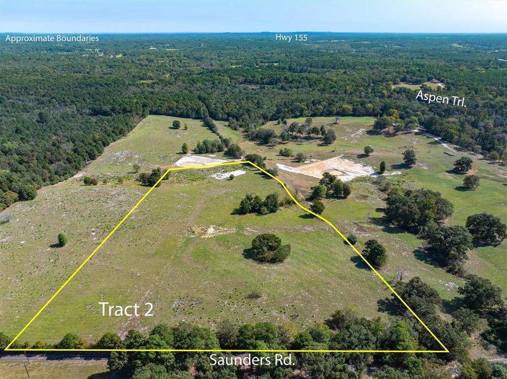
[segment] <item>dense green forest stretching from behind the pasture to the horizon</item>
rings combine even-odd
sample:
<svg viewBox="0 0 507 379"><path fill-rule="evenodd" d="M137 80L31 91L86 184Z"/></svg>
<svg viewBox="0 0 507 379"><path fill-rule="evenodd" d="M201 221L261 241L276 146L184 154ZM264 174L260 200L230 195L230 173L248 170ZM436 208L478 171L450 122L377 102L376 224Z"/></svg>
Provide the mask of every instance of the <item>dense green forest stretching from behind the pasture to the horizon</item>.
<svg viewBox="0 0 507 379"><path fill-rule="evenodd" d="M324 33L308 45L250 37L102 36L93 46L3 46L0 206L73 175L149 114L229 120L250 132L267 120L397 109L406 125L416 118L463 147L503 154L507 73L497 59L499 36ZM433 78L445 82L446 93L464 96L467 107L428 105L391 87Z"/></svg>

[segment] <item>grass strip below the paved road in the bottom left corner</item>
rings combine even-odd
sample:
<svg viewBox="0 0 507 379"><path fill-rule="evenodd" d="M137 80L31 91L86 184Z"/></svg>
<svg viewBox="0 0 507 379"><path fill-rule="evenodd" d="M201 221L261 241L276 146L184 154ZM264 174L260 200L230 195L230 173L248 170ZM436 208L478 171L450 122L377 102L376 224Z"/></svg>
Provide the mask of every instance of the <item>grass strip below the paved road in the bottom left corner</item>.
<svg viewBox="0 0 507 379"><path fill-rule="evenodd" d="M107 361L31 361L26 365L30 379L112 379L118 377L107 371ZM2 379L27 379L25 366L20 363L0 363Z"/></svg>

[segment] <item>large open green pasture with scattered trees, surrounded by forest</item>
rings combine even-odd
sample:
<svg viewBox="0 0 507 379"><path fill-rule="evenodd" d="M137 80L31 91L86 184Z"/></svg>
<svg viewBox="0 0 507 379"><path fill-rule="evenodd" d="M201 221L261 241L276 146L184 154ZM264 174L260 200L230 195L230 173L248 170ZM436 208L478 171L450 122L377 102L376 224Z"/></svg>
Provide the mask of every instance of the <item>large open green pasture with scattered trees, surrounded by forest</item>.
<svg viewBox="0 0 507 379"><path fill-rule="evenodd" d="M107 147L85 171L94 175L118 172L121 164L106 157L115 157L119 151L125 153L118 158L123 160L124 167L134 162L129 157L143 162L139 163L141 171L168 166L181 157L176 153L183 142L193 146L198 139L214 138L195 120L180 119L182 125L188 123L192 137L182 134L183 129L168 129L172 120L148 117L128 137ZM266 156L268 167L276 167L276 163L300 165L277 155L280 146L285 145L295 153L303 151L307 159L342 155L375 169L385 160L388 171L402 172L387 180L442 192L455 206L449 223L463 224L468 215L483 211L507 221L502 184L505 167L460 151L455 151L456 157L449 157L443 153L441 143L421 133L397 136L371 133L373 122L374 119L366 117L342 118L336 125L333 118L314 118L314 125L335 130L338 138L331 146L321 145L318 140L302 140L270 148L244 140L239 132L228 132L233 140L241 138L246 153ZM281 128L276 122L266 127L277 132ZM227 137L227 127L219 128ZM365 145L375 150L370 157L362 155ZM415 149L418 159L412 169L399 166L401 153L408 146ZM473 158L473 170L481 177L481 185L475 192L460 191L463 176L450 171L452 163L462 155ZM306 216L296 206L264 216L236 214L235 209L247 192L263 197L272 192L284 196L276 181L253 170L234 180L210 177L213 173L237 169L230 166L171 173L20 341L33 343L42 339L54 343L66 332L76 332L92 342L106 331L146 330L159 322L179 321L213 326L222 319L286 322L300 330L347 306L369 318L378 316L381 310L377 301L389 296L389 291L323 222ZM279 178L302 198L318 182L310 176L281 170ZM405 271L404 278L420 276L444 299L455 297L462 280L428 260L419 251L423 241L383 222L383 213L378 208L384 205L384 194L372 179L353 180L352 195L346 200L325 200L323 216L344 234L356 234L358 248L371 238L386 246L388 264L380 271L386 280ZM33 201L16 203L7 209L5 212L13 217L0 226L0 246L7 252L0 256L0 279L6 283L0 288L3 299L0 330L10 335L19 331L146 191L148 187L134 180L121 185L110 182L87 187L79 178L73 178L41 189ZM303 200L303 204L307 203ZM63 248L53 245L59 232L64 232L69 240ZM245 249L253 237L263 232L275 233L283 243L291 244L292 253L285 262L259 264L248 259ZM504 242L469 252L466 267L507 291L505 246ZM249 298L254 291L262 296ZM99 301L115 305L149 301L154 304L155 316L102 317Z"/></svg>

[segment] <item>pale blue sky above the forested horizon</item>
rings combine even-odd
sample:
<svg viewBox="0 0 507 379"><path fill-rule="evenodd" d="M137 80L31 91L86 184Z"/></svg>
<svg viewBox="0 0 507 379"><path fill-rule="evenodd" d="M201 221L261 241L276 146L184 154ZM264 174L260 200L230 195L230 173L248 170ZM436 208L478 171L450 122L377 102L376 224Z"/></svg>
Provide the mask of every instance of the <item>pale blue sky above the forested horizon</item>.
<svg viewBox="0 0 507 379"><path fill-rule="evenodd" d="M507 32L507 1L0 1L0 32Z"/></svg>

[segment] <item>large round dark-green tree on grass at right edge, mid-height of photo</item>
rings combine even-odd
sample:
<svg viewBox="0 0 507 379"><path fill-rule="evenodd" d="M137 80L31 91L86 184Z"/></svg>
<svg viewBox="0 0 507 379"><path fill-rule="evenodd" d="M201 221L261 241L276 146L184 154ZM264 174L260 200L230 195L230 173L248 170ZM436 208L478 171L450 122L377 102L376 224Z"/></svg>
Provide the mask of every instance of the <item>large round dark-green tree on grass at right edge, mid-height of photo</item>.
<svg viewBox="0 0 507 379"><path fill-rule="evenodd" d="M474 239L480 242L499 244L507 238L507 225L489 213L468 216L465 226Z"/></svg>

